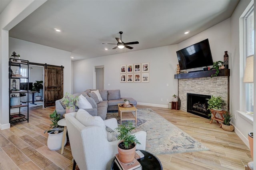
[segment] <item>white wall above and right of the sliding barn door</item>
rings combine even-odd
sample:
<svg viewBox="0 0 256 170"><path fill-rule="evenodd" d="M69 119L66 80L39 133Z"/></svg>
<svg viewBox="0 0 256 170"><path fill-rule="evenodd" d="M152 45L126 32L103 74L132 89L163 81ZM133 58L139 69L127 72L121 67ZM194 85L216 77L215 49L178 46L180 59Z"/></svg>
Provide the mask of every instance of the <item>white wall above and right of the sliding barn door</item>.
<svg viewBox="0 0 256 170"><path fill-rule="evenodd" d="M64 94L65 92L72 92L70 81L72 77L70 52L16 38L9 38L9 54L11 55L13 51L20 54L20 59L26 59L33 63L64 66L63 91Z"/></svg>

